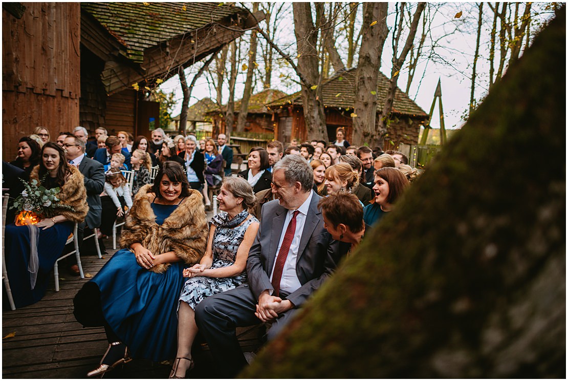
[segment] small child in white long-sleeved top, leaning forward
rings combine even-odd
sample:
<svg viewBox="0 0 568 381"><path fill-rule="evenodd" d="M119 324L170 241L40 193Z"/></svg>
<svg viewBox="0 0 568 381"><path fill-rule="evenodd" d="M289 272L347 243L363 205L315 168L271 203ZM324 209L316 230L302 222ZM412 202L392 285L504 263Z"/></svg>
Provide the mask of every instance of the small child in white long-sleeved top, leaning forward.
<svg viewBox="0 0 568 381"><path fill-rule="evenodd" d="M124 158L121 154L120 155ZM112 155L114 158L114 155ZM120 169L110 169L105 177L105 191L101 194L102 216L101 228L99 233L102 235L112 234L112 225L116 221L116 217L124 216L124 208L126 212L132 208L132 197L130 188Z"/></svg>

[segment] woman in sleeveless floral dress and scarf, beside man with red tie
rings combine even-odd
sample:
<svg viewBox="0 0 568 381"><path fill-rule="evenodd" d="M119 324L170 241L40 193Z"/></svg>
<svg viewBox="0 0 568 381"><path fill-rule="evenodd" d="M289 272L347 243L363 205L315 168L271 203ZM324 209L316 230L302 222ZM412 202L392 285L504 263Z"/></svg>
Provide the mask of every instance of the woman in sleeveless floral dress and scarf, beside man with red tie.
<svg viewBox="0 0 568 381"><path fill-rule="evenodd" d="M258 231L258 220L248 213L256 197L247 180L225 177L219 209L211 220L207 250L199 264L186 268L178 302L178 349L170 378L185 378L193 367L191 345L197 335L195 306L207 296L235 288L247 281L248 252Z"/></svg>

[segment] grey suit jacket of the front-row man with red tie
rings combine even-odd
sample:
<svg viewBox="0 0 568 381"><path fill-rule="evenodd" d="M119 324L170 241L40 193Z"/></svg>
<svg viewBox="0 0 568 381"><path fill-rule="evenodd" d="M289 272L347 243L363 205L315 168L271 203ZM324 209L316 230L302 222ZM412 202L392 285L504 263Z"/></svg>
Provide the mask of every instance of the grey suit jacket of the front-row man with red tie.
<svg viewBox="0 0 568 381"><path fill-rule="evenodd" d="M323 217L318 209L320 199L321 197L315 193L312 196L300 238L296 274L302 287L286 297L296 308L300 307L332 274L348 249L348 245L340 246L339 241L334 241L323 227ZM257 300L263 291L273 288L270 283L270 273L274 266L287 212L288 210L280 206L278 200L267 202L262 207L260 227L247 260L248 283Z"/></svg>

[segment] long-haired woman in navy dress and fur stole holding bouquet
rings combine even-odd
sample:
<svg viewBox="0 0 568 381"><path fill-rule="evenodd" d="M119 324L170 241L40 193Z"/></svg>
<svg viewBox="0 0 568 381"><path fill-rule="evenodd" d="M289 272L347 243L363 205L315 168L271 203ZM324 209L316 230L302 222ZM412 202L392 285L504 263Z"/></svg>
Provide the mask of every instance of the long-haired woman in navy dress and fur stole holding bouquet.
<svg viewBox="0 0 568 381"><path fill-rule="evenodd" d="M34 142L35 143L35 142ZM85 219L89 206L83 175L65 159L65 151L48 142L41 148L40 163L30 180L47 189L60 187L59 203L73 210L54 208L36 225L6 225L6 271L16 308L34 304L45 295L53 264L61 256L74 222ZM8 298L4 298L4 308Z"/></svg>

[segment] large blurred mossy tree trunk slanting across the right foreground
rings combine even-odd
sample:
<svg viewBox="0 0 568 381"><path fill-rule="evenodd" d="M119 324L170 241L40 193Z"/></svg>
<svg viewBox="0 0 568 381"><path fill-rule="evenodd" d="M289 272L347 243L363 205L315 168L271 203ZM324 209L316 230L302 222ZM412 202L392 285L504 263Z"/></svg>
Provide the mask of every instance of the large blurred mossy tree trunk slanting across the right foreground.
<svg viewBox="0 0 568 381"><path fill-rule="evenodd" d="M247 378L565 378L565 9Z"/></svg>

